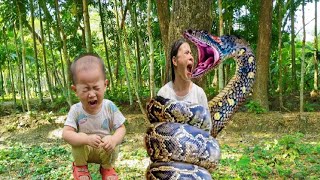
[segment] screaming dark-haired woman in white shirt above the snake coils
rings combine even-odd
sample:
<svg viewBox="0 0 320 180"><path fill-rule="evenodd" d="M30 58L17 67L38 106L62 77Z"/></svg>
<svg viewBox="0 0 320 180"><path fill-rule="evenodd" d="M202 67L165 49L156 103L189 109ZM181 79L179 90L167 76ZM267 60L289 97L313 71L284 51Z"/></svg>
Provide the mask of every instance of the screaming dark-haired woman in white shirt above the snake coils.
<svg viewBox="0 0 320 180"><path fill-rule="evenodd" d="M203 89L191 81L194 58L185 39L173 43L170 59L172 81L165 84L157 95L177 101L197 103L208 109L208 100Z"/></svg>

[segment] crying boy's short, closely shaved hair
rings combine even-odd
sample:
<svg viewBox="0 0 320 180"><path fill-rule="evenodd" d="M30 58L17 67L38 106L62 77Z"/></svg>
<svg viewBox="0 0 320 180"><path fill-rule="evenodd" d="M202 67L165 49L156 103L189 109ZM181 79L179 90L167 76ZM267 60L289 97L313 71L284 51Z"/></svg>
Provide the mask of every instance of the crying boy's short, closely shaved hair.
<svg viewBox="0 0 320 180"><path fill-rule="evenodd" d="M71 66L70 66L70 71L71 71L71 75L72 75L72 83L76 84L76 82L77 82L77 77L76 77L76 70L77 70L77 64L78 64L77 62L78 62L79 59L81 59L81 58L83 58L85 56L92 56L94 58L89 58L86 61L81 62L81 63L87 63L87 64L97 63L101 67L101 71L103 73L103 78L105 80L106 79L106 69L105 69L105 66L104 66L104 62L100 58L100 56L95 54L95 53L84 53L84 54L81 54L81 55L77 56L73 60ZM98 60L98 61L96 61L96 60Z"/></svg>

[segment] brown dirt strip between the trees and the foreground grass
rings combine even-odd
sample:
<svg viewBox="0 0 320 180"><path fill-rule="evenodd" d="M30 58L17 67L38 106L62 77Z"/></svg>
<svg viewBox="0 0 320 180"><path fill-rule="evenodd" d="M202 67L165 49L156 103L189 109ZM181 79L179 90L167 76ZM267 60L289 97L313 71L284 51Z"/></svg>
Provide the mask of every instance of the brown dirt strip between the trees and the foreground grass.
<svg viewBox="0 0 320 180"><path fill-rule="evenodd" d="M144 132L149 122L142 114L125 113L128 150L143 145ZM23 144L61 143L61 130L66 116L48 113L15 114L0 117L0 148L7 140ZM299 113L268 112L263 114L238 112L218 135L221 144L255 143L261 138L272 139L286 133L301 132L306 138L319 141L320 112ZM130 143L132 142L132 144ZM138 143L137 143L138 142Z"/></svg>

